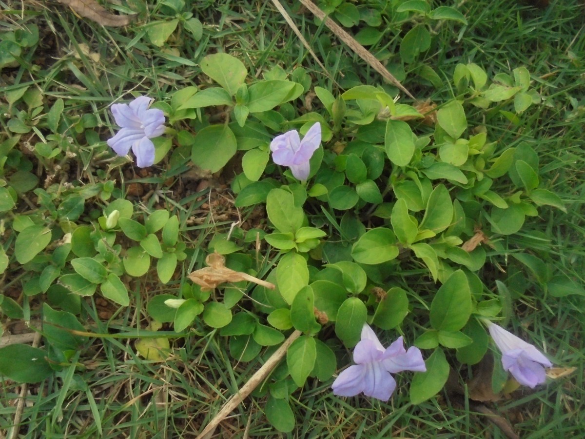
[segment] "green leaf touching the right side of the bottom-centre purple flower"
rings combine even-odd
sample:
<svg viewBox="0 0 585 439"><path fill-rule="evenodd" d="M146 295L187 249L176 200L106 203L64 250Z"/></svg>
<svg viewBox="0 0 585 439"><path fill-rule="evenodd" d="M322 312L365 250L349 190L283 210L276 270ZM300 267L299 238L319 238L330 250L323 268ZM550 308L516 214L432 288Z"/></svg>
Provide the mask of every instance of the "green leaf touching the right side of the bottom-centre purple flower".
<svg viewBox="0 0 585 439"><path fill-rule="evenodd" d="M415 373L410 385L410 402L420 404L435 396L449 378L449 363L441 348L425 361L426 372Z"/></svg>

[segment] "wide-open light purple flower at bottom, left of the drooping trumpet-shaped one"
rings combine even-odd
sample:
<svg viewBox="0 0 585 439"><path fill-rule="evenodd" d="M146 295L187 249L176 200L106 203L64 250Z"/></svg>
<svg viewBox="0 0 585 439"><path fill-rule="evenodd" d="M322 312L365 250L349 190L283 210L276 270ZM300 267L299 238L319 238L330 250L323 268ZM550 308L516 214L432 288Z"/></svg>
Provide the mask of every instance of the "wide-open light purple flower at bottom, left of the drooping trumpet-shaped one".
<svg viewBox="0 0 585 439"><path fill-rule="evenodd" d="M398 337L388 349L384 349L367 324L362 328L362 339L353 350L353 361L357 364L349 366L333 382L331 388L334 395L355 396L364 393L387 401L396 388L390 373L426 371L418 348L413 346L406 351L402 337Z"/></svg>

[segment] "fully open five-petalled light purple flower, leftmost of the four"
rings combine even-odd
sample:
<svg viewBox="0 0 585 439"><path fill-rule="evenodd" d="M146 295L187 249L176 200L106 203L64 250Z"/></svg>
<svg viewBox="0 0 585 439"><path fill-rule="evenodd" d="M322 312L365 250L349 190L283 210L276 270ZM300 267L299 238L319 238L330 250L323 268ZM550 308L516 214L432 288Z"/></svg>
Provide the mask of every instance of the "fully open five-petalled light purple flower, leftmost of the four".
<svg viewBox="0 0 585 439"><path fill-rule="evenodd" d="M150 139L160 136L165 129L163 111L149 109L152 101L149 97L139 96L130 104L112 105L113 118L122 129L108 140L108 145L119 156L128 155L132 148L139 167L154 163L154 144Z"/></svg>

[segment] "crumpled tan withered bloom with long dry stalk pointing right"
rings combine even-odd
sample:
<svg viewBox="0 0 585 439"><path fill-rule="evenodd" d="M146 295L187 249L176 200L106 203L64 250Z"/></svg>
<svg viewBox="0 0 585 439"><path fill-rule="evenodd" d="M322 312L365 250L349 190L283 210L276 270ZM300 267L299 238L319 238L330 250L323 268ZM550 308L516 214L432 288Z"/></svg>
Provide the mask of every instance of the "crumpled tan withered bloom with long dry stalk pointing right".
<svg viewBox="0 0 585 439"><path fill-rule="evenodd" d="M245 280L247 282L257 283L263 287L274 290L273 283L250 276L247 273L236 272L225 266L225 258L219 253L211 253L205 258L205 263L208 267L195 270L188 277L192 282L201 286L202 291L210 291L225 282L240 282Z"/></svg>

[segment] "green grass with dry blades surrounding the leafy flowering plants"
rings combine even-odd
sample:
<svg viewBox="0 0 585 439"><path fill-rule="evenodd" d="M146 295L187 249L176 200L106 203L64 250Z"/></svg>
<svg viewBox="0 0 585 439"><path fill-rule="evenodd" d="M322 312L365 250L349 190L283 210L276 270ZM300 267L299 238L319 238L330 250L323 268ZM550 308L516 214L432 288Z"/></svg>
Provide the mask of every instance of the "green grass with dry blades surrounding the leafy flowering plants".
<svg viewBox="0 0 585 439"><path fill-rule="evenodd" d="M391 2L367 2L379 9L387 3ZM18 85L30 84L42 90L51 103L63 98L71 125L82 115L93 114L103 140L112 132L109 126L114 125L106 108L114 100L128 98L130 90L164 100L178 88L208 83L197 66L181 63L177 56L198 64L206 54L227 52L242 60L256 77L274 66L288 73L302 66L311 74L312 87L319 85L334 91L340 90L338 86L345 90L357 84L380 83L369 66L323 25L315 24L311 14L299 5L290 2L285 7L328 68L326 73L270 2L189 1L185 10L192 10L204 23L204 35L195 41L179 25L166 46L176 50L174 58L150 43L145 35L144 25L148 22L174 17L157 2L149 4L148 12L141 2L123 2L118 7L122 13L139 11L140 15L137 22L121 29L104 28L77 18L56 3L27 3L21 11L18 2L0 2L6 9L0 31L35 23L41 34L40 49L35 53L23 51L16 67L2 70L0 95ZM457 63L480 64L490 76L519 66L531 72L542 103L529 108L519 125L507 123L498 115L483 123L500 145L526 142L538 152L540 177L546 187L566 201L567 212L542 208L538 217L529 218L519 234L508 237L497 251L489 253L501 271L494 269L488 275L503 280L512 290L515 300L508 327L544 347L556 366L575 367L576 372L534 391L517 392L510 399L486 405L509 417L520 437L580 437L585 425L583 296L551 297L530 276L522 277L522 284L515 282L515 273L506 269L505 261L512 258L511 253L524 249L541 258L553 273L566 273L581 284L585 282L582 5L577 1L552 1L547 8L536 9L527 2L478 0L463 2L459 10L469 25L437 23L431 49L417 63L402 66L398 56L404 36L401 23L387 23L383 37L369 50L415 96L438 103L453 95L450 78ZM99 60L92 60L84 47L97 54ZM442 87L435 88L418 76L422 65L436 71ZM385 87L392 90L389 85ZM314 105L315 111L322 111L317 100ZM6 124L0 118L0 136L8 132ZM205 239L215 232L227 232L235 220L230 217L215 221L211 214L202 214L199 209L207 202L207 193L195 192L190 181L181 180L178 171L176 186L171 190L177 190L179 184L187 185L187 189L179 191L181 195L176 198L165 192L166 180L172 173L146 178L131 172L122 174L116 168L98 176L92 160L108 165L106 146L91 146L92 139L73 131L70 141L76 156L64 159L61 170L55 171L55 180L111 178L121 185L122 193L131 183L148 184L153 193L143 200L144 210L148 212L161 200L167 200L180 215L187 246L197 249L192 259L185 261L185 272L201 266L205 249L200 246ZM37 169L41 174L41 167ZM502 185L505 190L505 183ZM35 205L32 201L30 204ZM246 217L249 212L242 214ZM199 223L188 221L192 217L199 217ZM2 282L3 287L8 287L10 280ZM148 323L147 300L155 294L176 292L179 287L178 282L160 286L154 277L145 277L132 285L131 306L109 320L99 317L94 300L88 302L82 315L90 322L92 332L136 331ZM414 338L408 325L404 331L408 339ZM216 331L209 332L202 323L195 324L188 337L171 339L171 345L171 359L157 363L137 355L133 339L92 339L91 347L77 358L82 364L77 373L68 366L40 386L29 385L19 437L192 437L271 353L266 349L253 361L236 363L225 338ZM343 358L338 358L338 367L349 362L350 352L345 352ZM278 369L274 373L278 374ZM340 399L332 395L331 383L311 381L292 394L297 424L288 435L276 433L267 423L263 414L265 399L247 399L221 424L218 437L504 437L488 416L474 410L463 397L442 392L436 399L413 406L408 401L410 377L405 373L397 378L398 389L387 404L366 397ZM0 433L12 426L20 392L20 386L14 384L4 382L1 386Z"/></svg>

